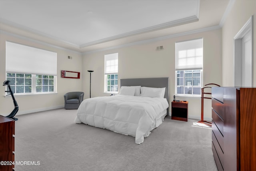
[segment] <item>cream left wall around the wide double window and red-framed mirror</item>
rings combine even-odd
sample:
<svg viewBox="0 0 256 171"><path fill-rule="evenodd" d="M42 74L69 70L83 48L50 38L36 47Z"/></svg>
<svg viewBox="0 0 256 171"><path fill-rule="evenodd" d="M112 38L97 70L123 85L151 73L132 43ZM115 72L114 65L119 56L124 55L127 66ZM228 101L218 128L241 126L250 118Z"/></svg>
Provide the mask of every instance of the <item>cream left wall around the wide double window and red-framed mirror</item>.
<svg viewBox="0 0 256 171"><path fill-rule="evenodd" d="M24 113L31 113L34 111L43 111L48 109L55 109L64 107L63 95L68 91L82 91L82 79L70 79L61 78L61 70L76 71L82 73L82 54L48 46L46 44L35 42L22 38L21 36L15 36L12 34L6 34L1 32L0 34L0 114L8 115L13 109L14 105L10 96L5 96L5 86L2 86L2 82L6 80L6 68L5 68L5 49L6 41L16 42L24 44L26 46L32 46L35 48L41 48L52 52L57 52L57 92L56 94L44 94L44 95L16 95L16 101L19 106L17 115ZM72 56L72 60L68 59L68 56Z"/></svg>

